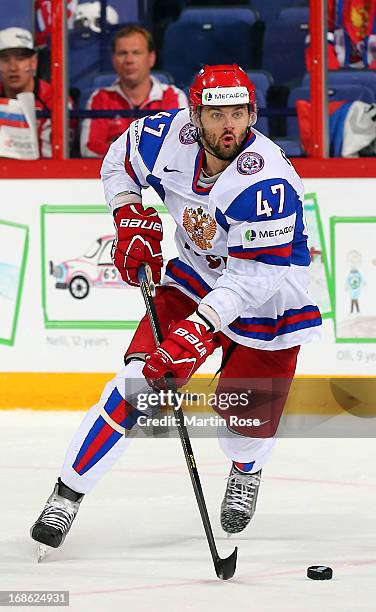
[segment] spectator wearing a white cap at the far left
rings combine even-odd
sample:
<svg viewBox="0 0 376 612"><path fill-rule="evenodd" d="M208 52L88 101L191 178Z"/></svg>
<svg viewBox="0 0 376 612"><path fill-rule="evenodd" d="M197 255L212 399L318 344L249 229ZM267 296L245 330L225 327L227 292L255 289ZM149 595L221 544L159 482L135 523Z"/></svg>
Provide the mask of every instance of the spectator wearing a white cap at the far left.
<svg viewBox="0 0 376 612"><path fill-rule="evenodd" d="M38 58L33 37L22 28L0 31L0 97L16 98L17 94L32 92L38 110L49 109L51 85L36 78ZM51 157L51 121L37 119L41 157Z"/></svg>

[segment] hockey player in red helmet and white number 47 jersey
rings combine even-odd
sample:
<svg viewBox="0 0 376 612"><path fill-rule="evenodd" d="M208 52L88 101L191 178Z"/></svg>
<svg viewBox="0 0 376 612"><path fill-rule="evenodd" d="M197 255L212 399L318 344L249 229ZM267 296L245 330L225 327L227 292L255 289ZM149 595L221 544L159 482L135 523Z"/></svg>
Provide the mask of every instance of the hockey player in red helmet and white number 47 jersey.
<svg viewBox="0 0 376 612"><path fill-rule="evenodd" d="M135 387L161 386L168 372L187 381L218 346L218 389L253 380L246 409L259 417L258 427L243 427L230 419L236 407L223 411L228 429L220 444L232 463L222 527L240 532L254 514L299 347L321 325L307 293L303 185L284 152L254 129L255 95L238 66L204 66L190 88L189 110L135 121L104 159L105 197L117 230L113 259L126 283L138 285L141 262L157 285L161 278L162 224L156 210L142 206L142 189L152 186L176 223L179 256L168 262L155 298L165 340L156 349L142 319L125 367L72 440L31 529L38 542L63 542L83 495L129 444L140 414ZM257 393L260 380L269 380L269 393Z"/></svg>

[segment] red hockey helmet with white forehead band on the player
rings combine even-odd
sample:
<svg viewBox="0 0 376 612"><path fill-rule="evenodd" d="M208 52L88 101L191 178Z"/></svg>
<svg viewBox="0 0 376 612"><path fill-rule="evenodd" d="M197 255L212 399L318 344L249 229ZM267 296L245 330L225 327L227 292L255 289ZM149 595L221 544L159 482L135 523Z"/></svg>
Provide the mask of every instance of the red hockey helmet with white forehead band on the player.
<svg viewBox="0 0 376 612"><path fill-rule="evenodd" d="M198 106L249 104L256 112L256 89L240 66L236 64L205 65L189 88L193 112Z"/></svg>

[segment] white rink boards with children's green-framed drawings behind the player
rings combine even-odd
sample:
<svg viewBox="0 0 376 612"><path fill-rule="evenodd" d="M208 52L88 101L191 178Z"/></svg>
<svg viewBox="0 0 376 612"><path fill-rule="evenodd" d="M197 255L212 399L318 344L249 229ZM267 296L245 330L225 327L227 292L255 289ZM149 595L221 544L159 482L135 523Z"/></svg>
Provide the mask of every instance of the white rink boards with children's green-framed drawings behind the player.
<svg viewBox="0 0 376 612"><path fill-rule="evenodd" d="M373 376L376 249L369 219L376 179L304 183L313 262L310 291L324 321L322 340L302 348L297 373ZM151 188L144 199L160 211L167 260L175 254L173 224ZM340 221L353 217L354 203L356 228L355 222ZM14 236L7 234L10 227L17 230ZM4 244L14 245L0 252L0 408L84 408L96 401L110 373L122 367L143 311L139 291L119 282L108 258L114 228L100 181L2 180L0 232ZM90 251L98 240L97 251ZM352 251L357 251L357 270L364 279L359 313L349 312L351 295L344 287ZM89 272L85 254L92 255ZM80 299L67 283L57 287L73 278L77 266L89 276L88 294ZM60 278L51 274L55 268ZM216 371L218 359L209 358L200 371Z"/></svg>

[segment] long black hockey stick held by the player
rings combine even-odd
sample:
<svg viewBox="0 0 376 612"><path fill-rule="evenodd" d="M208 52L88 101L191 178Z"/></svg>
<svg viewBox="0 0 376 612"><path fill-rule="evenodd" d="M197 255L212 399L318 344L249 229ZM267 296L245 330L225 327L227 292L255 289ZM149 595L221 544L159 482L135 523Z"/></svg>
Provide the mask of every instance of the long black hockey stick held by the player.
<svg viewBox="0 0 376 612"><path fill-rule="evenodd" d="M156 345L159 346L163 340L163 337L162 337L162 332L161 332L161 328L160 328L159 321L158 321L157 312L156 312L155 305L154 305L153 292L152 292L152 288L149 282L150 274L148 272L149 270L147 266L144 264L141 264L141 266L138 269L138 281L140 283L142 296L145 301L146 312L149 317L151 328L153 330L154 340L155 340ZM184 414L183 414L182 409L179 408L178 404L175 402L176 385L174 384L174 381L171 380L171 378L166 382L168 382L169 389L173 391L171 395L174 398L173 404L174 404L174 413L175 413L176 421L178 424L177 429L178 429L180 441L183 447L184 456L185 456L185 460L187 463L189 475L191 477L193 490L195 492L197 505L200 510L201 519L204 525L204 529L205 529L206 537L208 540L211 556L213 559L215 571L216 571L218 578L221 578L222 580L228 580L229 578L232 578L233 575L235 574L238 547L236 546L234 552L229 557L226 557L225 559L221 559L221 557L218 555L217 547L215 545L215 540L213 536L213 531L210 525L208 511L206 508L204 493L201 487L200 477L197 471L196 461L195 461L195 457L194 457L192 446L191 446L191 441L189 439L189 434L188 434L187 428L184 423Z"/></svg>

